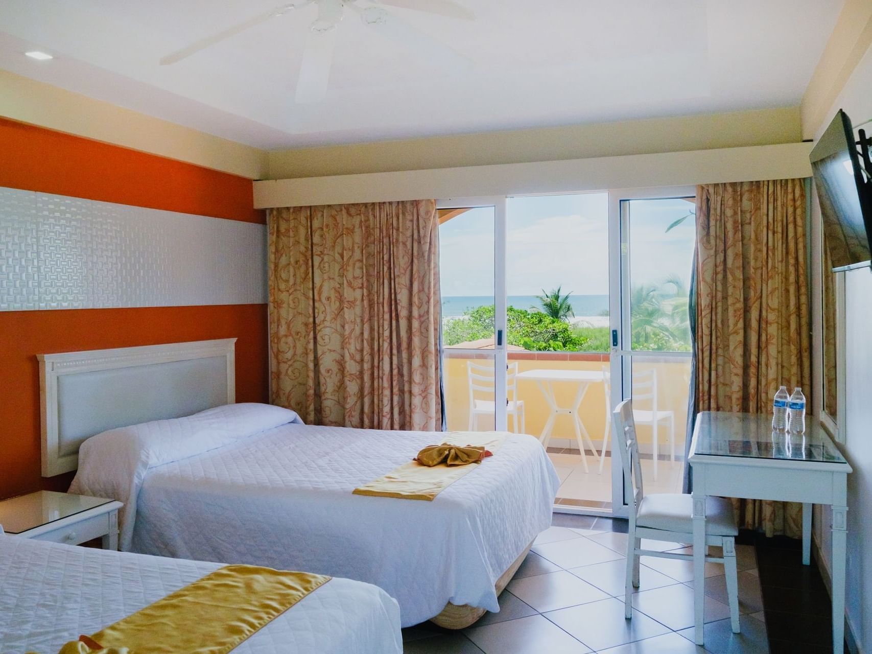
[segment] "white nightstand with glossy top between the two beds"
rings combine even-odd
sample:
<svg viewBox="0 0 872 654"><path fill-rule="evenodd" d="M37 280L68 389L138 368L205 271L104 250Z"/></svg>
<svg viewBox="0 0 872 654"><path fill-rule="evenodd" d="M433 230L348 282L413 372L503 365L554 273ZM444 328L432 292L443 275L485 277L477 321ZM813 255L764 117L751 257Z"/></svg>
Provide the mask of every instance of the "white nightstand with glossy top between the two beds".
<svg viewBox="0 0 872 654"><path fill-rule="evenodd" d="M118 549L118 510L124 505L102 497L37 491L0 501L0 525L8 535L78 545L103 539Z"/></svg>

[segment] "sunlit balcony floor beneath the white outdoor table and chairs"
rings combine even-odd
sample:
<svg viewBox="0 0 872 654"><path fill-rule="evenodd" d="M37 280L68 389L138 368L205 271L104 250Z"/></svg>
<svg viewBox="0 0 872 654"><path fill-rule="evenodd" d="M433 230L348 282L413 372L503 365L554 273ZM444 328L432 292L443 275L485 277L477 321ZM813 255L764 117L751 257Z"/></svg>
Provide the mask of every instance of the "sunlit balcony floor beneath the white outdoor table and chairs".
<svg viewBox="0 0 872 654"><path fill-rule="evenodd" d="M606 454L603 473L598 473L599 460L588 453L589 472L584 472L578 450L549 447L548 459L554 464L561 480L557 504L610 508L611 459ZM642 460L642 475L646 493L681 493L683 462L661 459L657 462L657 480L654 480L653 461ZM605 505L603 507L603 505Z"/></svg>

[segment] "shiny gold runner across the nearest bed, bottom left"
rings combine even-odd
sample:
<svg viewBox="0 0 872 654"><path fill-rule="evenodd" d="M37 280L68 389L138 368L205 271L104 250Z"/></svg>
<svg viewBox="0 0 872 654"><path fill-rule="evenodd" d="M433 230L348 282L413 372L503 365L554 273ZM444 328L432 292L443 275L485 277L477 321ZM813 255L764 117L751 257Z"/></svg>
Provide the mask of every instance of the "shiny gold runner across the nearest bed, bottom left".
<svg viewBox="0 0 872 654"><path fill-rule="evenodd" d="M226 654L329 576L228 565L59 654Z"/></svg>

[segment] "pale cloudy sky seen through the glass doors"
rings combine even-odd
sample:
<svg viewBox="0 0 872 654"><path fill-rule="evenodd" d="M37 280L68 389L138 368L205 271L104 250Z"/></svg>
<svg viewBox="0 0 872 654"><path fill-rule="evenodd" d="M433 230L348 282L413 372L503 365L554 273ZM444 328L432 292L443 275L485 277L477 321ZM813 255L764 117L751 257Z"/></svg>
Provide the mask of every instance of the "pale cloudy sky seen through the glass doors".
<svg viewBox="0 0 872 654"><path fill-rule="evenodd" d="M537 195L508 199L509 296L557 286L574 295L609 293L608 194ZM630 201L630 281L690 282L694 222L668 234L693 210L681 199ZM474 208L439 226L442 296L493 296L494 208Z"/></svg>

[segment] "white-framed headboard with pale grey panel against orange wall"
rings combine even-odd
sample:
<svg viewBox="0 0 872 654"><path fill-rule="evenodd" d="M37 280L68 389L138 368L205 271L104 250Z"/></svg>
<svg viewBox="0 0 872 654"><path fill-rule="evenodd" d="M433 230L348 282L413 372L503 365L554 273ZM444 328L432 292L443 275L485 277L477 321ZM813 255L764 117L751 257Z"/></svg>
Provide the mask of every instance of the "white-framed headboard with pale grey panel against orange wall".
<svg viewBox="0 0 872 654"><path fill-rule="evenodd" d="M94 434L236 401L235 338L38 354L43 476L78 467Z"/></svg>

